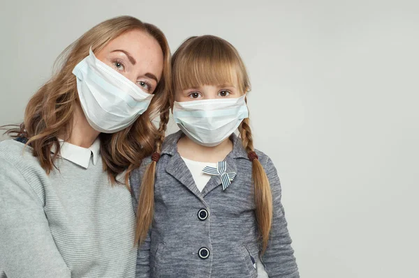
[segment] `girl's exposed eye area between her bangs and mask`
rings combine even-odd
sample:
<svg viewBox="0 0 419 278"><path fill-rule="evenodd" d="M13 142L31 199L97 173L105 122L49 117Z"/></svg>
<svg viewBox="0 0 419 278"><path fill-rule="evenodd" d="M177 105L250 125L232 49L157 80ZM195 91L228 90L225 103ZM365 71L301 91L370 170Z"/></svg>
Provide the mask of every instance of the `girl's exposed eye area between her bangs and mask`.
<svg viewBox="0 0 419 278"><path fill-rule="evenodd" d="M177 90L175 100L185 102L191 100L212 100L216 98L239 98L242 92L235 84L203 85L195 88Z"/></svg>

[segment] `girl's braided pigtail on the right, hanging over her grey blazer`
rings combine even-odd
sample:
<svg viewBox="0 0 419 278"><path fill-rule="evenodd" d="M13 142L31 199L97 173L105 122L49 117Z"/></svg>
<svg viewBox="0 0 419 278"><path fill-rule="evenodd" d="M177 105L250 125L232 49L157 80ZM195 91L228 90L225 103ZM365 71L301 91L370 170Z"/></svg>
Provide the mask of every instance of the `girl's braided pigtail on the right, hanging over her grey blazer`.
<svg viewBox="0 0 419 278"><path fill-rule="evenodd" d="M262 254L267 248L270 229L272 225L272 193L270 183L265 170L258 160L253 148L253 139L249 125L249 118L245 118L239 127L242 144L248 153L252 164L252 179L254 185L254 200L256 206L256 221L258 222L258 233L262 241Z"/></svg>

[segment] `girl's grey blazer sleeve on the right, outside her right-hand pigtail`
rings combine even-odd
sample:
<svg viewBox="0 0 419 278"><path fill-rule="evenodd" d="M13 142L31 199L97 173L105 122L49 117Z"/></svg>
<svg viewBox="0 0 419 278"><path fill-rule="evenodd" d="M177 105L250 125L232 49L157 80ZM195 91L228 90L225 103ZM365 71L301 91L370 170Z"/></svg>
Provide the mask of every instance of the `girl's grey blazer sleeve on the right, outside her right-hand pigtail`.
<svg viewBox="0 0 419 278"><path fill-rule="evenodd" d="M281 204L281 183L272 160L265 165L272 191L273 217L270 240L262 261L270 278L299 278L291 237L288 233L284 207Z"/></svg>

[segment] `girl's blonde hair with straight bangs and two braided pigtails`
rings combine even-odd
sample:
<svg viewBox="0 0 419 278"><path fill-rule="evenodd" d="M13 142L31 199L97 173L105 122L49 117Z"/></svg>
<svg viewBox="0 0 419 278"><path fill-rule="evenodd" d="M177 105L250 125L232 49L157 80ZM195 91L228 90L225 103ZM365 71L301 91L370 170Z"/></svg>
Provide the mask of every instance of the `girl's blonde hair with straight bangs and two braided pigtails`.
<svg viewBox="0 0 419 278"><path fill-rule="evenodd" d="M172 93L177 90L203 85L235 84L242 93L250 91L246 67L235 47L216 36L191 37L184 41L172 56ZM170 102L172 107L172 102ZM162 121L168 121L168 110ZM165 126L166 123L161 126ZM254 157L249 118L239 127L242 144ZM163 130L162 130L163 132ZM160 152L160 149L156 149ZM156 159L145 171L138 200L136 240L143 242L152 224L154 213L154 174ZM252 178L258 232L265 252L272 224L272 194L265 170L258 159L252 160Z"/></svg>

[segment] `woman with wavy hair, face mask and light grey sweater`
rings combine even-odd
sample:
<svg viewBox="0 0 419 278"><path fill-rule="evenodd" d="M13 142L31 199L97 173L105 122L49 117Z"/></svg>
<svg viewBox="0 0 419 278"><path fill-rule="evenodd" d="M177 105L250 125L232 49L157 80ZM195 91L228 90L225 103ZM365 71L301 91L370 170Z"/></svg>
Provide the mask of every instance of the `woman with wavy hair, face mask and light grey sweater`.
<svg viewBox="0 0 419 278"><path fill-rule="evenodd" d="M0 143L0 277L133 277L127 180L162 136L170 49L156 26L116 17L61 55Z"/></svg>

